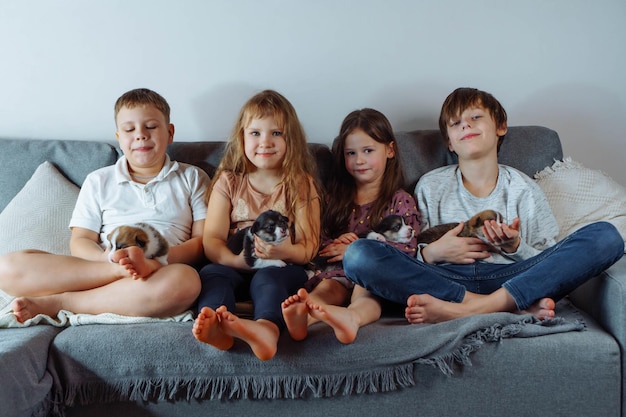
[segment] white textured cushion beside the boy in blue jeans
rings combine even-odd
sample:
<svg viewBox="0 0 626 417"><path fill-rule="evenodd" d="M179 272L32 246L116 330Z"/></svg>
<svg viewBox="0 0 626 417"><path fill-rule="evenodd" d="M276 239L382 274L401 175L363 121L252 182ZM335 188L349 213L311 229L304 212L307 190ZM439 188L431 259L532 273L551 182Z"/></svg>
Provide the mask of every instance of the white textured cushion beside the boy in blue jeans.
<svg viewBox="0 0 626 417"><path fill-rule="evenodd" d="M626 188L602 171L565 158L535 175L559 225L559 239L597 221L608 221L626 241Z"/></svg>

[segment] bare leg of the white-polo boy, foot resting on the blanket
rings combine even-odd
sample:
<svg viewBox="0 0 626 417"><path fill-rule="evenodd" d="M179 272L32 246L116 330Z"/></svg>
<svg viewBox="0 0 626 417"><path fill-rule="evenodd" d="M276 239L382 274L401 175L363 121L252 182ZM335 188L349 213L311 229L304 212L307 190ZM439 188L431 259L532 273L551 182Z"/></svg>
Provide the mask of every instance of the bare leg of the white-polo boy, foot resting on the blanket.
<svg viewBox="0 0 626 417"><path fill-rule="evenodd" d="M126 316L165 317L189 308L199 292L198 273L190 266L172 264L159 269L146 281L124 278L85 291L18 297L13 300L12 307L20 322L37 314L54 317L61 309L76 314L110 312Z"/></svg>

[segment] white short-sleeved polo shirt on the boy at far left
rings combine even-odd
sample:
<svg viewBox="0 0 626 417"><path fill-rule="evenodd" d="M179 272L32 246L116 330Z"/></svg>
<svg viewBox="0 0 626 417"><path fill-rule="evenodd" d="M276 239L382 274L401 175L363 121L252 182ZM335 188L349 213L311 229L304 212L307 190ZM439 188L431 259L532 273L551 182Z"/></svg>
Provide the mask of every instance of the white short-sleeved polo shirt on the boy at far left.
<svg viewBox="0 0 626 417"><path fill-rule="evenodd" d="M191 237L194 221L206 217L205 192L209 176L193 165L170 160L147 184L131 180L126 157L115 165L90 173L81 187L70 228L100 233L100 241L115 227L146 222L159 230L170 245Z"/></svg>

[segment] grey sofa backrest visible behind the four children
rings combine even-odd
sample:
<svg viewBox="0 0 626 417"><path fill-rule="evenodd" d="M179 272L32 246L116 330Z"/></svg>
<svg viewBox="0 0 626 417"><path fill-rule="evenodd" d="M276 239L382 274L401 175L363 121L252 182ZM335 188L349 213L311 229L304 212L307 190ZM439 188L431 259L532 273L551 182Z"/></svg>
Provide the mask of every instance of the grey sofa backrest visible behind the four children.
<svg viewBox="0 0 626 417"><path fill-rule="evenodd" d="M438 130L396 132L398 155L402 162L405 189L413 192L426 172L456 162ZM168 147L173 160L197 165L213 175L224 142L177 142ZM332 154L327 145L310 143L322 183L331 171ZM44 161L53 163L74 184L82 185L87 174L112 165L121 155L114 144L92 141L2 139L0 140L0 211L21 190L35 169ZM558 134L541 126L513 126L500 149L501 163L533 176L555 160L563 158Z"/></svg>

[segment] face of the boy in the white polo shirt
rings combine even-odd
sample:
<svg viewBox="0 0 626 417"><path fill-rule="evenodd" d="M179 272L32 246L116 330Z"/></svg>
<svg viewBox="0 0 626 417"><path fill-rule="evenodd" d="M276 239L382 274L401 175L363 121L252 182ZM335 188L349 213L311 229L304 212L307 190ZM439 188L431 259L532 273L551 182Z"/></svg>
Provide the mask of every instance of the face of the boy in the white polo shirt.
<svg viewBox="0 0 626 417"><path fill-rule="evenodd" d="M174 125L156 107L122 107L115 117L115 136L128 160L129 168L145 175L156 175L165 162L167 145L174 140Z"/></svg>

